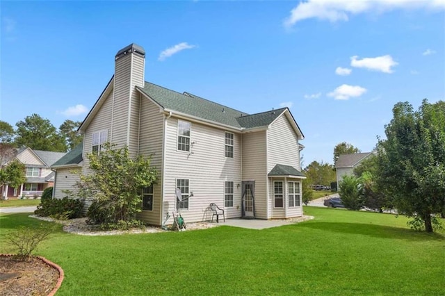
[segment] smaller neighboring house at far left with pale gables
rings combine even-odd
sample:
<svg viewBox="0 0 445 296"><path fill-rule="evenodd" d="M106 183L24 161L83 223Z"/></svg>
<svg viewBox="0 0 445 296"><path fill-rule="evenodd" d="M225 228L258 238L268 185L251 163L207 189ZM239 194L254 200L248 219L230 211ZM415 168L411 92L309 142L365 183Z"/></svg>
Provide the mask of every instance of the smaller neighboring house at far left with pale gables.
<svg viewBox="0 0 445 296"><path fill-rule="evenodd" d="M17 188L3 186L1 196L9 197L41 197L45 188L54 185L54 172L50 166L64 156L64 152L17 149L15 159L25 166L26 181Z"/></svg>

